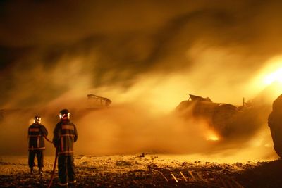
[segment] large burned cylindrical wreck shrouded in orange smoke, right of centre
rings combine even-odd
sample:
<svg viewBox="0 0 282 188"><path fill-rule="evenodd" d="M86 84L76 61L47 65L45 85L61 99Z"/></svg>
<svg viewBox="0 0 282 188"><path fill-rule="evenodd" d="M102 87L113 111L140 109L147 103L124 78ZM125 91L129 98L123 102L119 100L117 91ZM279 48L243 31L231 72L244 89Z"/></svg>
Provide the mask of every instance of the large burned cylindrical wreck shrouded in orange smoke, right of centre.
<svg viewBox="0 0 282 188"><path fill-rule="evenodd" d="M188 101L182 101L176 112L184 119L204 120L219 137L244 137L246 132L257 130L261 120L257 118L257 108L243 102L243 106L215 103L209 97L189 95Z"/></svg>

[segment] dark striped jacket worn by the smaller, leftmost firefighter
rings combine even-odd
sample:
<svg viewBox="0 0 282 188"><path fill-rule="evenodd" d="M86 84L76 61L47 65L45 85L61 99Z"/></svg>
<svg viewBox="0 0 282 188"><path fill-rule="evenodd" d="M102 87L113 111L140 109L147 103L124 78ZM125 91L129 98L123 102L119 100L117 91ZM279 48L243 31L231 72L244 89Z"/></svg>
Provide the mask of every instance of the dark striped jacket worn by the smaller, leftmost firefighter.
<svg viewBox="0 0 282 188"><path fill-rule="evenodd" d="M33 123L28 127L28 150L43 150L45 149L44 137L48 135L44 125Z"/></svg>

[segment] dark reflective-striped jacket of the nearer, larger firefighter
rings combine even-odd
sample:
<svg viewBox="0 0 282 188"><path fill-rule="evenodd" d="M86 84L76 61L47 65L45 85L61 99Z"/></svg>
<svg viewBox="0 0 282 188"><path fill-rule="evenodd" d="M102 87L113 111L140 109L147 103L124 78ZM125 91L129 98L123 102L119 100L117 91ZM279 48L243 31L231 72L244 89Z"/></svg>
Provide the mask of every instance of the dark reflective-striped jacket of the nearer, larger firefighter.
<svg viewBox="0 0 282 188"><path fill-rule="evenodd" d="M73 142L77 139L78 132L75 125L68 118L62 118L55 127L53 139L59 156L72 156Z"/></svg>

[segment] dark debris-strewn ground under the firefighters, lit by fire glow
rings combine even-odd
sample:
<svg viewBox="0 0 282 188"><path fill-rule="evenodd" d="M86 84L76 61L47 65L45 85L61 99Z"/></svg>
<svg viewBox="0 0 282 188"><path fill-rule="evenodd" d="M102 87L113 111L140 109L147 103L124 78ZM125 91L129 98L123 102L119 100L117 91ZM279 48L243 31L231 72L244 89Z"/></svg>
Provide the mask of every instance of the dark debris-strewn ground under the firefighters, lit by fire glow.
<svg viewBox="0 0 282 188"><path fill-rule="evenodd" d="M26 156L0 156L0 187L47 187L44 173L29 174ZM282 187L282 160L247 163L185 162L164 156L75 156L76 187ZM35 168L37 170L37 168ZM51 187L58 187L58 174Z"/></svg>

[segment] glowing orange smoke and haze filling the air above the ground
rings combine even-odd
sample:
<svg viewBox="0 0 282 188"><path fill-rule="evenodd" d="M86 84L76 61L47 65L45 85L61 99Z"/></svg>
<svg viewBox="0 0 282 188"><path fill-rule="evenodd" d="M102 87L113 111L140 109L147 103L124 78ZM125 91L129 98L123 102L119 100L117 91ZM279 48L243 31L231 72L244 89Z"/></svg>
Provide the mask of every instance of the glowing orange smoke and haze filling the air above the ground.
<svg viewBox="0 0 282 188"><path fill-rule="evenodd" d="M27 153L35 115L51 139L69 108L78 154L275 157L267 115L282 93L281 9L281 1L1 1L0 153ZM87 111L87 94L112 104ZM175 112L188 94L253 100L257 124L240 141L207 142L205 121Z"/></svg>

